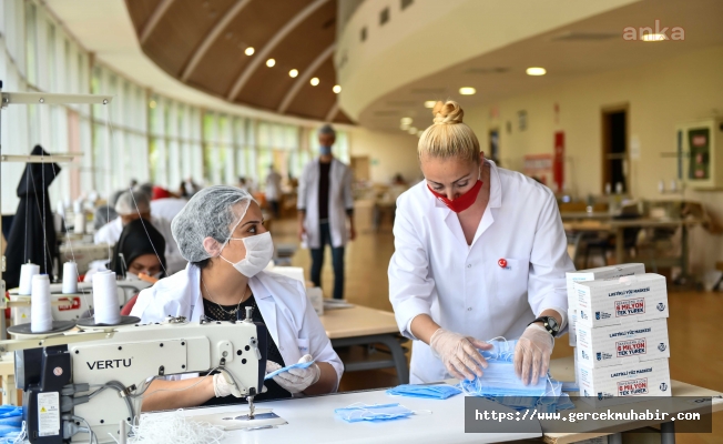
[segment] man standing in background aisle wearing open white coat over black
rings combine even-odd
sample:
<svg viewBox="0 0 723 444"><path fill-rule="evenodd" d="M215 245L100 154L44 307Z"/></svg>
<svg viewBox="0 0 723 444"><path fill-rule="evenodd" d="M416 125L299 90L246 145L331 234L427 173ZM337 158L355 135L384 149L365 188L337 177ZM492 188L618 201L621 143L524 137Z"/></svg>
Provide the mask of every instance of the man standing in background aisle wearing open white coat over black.
<svg viewBox="0 0 723 444"><path fill-rule="evenodd" d="M356 238L352 171L332 154L336 140L332 125L318 130L318 140L320 155L304 168L298 180L298 236L312 251L312 282L319 287L324 250L332 245L334 299L344 299L344 246Z"/></svg>

